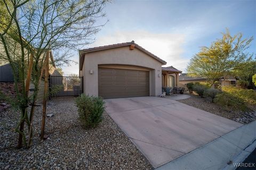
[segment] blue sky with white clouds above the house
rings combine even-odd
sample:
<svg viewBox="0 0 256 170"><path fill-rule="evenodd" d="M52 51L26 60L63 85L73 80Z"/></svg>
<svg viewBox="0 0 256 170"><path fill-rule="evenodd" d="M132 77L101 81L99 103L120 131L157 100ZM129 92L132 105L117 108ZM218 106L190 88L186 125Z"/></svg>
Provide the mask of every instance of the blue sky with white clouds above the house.
<svg viewBox="0 0 256 170"><path fill-rule="evenodd" d="M135 41L136 44L186 72L191 57L200 47L210 46L229 29L231 35L243 33L256 38L256 0L254 1L112 1L103 10L106 25L95 41L84 48ZM256 53L256 39L248 49ZM78 52L74 61L78 62ZM63 66L65 74L78 74L78 64Z"/></svg>

